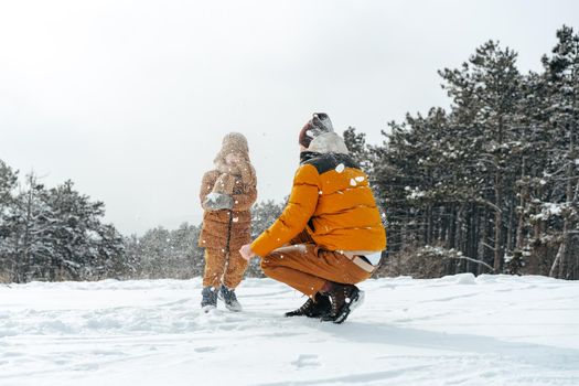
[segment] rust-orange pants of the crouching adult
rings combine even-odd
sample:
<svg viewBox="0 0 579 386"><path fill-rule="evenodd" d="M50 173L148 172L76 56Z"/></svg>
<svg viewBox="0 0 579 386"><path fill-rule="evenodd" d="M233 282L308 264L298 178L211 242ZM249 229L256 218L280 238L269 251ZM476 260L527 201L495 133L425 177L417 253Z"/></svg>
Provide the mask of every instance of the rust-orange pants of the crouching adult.
<svg viewBox="0 0 579 386"><path fill-rule="evenodd" d="M305 232L290 244L265 256L261 269L266 276L309 297L319 292L328 280L355 285L372 276L345 255L320 248Z"/></svg>

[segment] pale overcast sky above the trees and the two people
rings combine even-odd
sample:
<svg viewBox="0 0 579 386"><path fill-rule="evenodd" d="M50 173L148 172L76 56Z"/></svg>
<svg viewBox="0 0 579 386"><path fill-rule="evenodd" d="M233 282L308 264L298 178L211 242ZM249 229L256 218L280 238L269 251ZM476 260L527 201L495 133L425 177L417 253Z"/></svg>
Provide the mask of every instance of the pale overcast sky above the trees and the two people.
<svg viewBox="0 0 579 386"><path fill-rule="evenodd" d="M448 106L437 69L489 39L539 69L576 0L1 1L0 159L71 179L124 234L197 224L222 137L249 141L259 200L291 189L312 111L373 143Z"/></svg>

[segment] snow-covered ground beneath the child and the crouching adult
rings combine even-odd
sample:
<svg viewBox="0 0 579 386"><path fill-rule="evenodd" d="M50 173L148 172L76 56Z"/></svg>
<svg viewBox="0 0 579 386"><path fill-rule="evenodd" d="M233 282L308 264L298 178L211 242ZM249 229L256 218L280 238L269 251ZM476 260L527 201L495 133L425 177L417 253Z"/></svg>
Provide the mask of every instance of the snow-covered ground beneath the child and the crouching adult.
<svg viewBox="0 0 579 386"><path fill-rule="evenodd" d="M579 282L367 280L342 325L281 317L269 279L242 313L199 279L0 285L0 385L579 385Z"/></svg>

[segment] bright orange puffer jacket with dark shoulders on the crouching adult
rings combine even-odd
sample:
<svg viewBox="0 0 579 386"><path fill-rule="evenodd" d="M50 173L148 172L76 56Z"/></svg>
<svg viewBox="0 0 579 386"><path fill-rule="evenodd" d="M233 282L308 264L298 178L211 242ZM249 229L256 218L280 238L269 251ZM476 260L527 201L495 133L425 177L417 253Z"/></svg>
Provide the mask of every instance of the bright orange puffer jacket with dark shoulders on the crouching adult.
<svg viewBox="0 0 579 386"><path fill-rule="evenodd" d="M386 248L386 230L367 176L350 156L302 152L288 204L251 249L264 257L303 229L326 250Z"/></svg>

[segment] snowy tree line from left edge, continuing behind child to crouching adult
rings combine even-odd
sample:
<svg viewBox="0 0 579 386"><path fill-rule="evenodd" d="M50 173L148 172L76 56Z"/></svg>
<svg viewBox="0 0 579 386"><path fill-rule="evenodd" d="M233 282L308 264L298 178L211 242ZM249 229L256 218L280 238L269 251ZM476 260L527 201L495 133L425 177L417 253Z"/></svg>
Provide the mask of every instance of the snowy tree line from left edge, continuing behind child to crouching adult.
<svg viewBox="0 0 579 386"><path fill-rule="evenodd" d="M253 236L281 213L282 204L253 208ZM157 227L122 237L104 224L105 206L74 190L72 181L46 189L31 173L23 184L0 160L0 282L32 280L189 279L203 275L201 226ZM248 276L261 277L259 261Z"/></svg>

